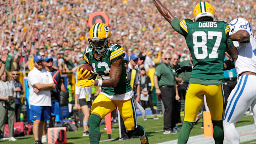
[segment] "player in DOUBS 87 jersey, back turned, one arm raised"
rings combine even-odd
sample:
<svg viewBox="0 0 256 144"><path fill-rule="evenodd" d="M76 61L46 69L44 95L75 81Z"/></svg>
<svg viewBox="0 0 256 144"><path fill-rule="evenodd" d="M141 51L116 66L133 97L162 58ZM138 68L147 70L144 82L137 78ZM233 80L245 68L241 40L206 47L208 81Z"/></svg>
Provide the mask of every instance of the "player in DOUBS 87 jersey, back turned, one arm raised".
<svg viewBox="0 0 256 144"><path fill-rule="evenodd" d="M215 12L208 2L199 2L194 10L194 21L176 18L160 0L153 0L162 16L175 31L185 37L193 58L193 71L185 98L185 116L178 135L178 144L187 143L189 133L202 106L206 95L207 105L213 123L215 144L222 144L224 139L223 115L223 61L227 51L236 57L236 49L228 36L229 26L224 21L214 21Z"/></svg>

